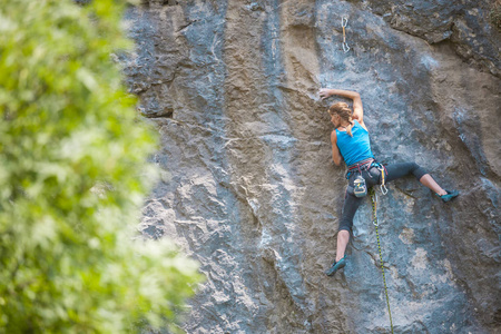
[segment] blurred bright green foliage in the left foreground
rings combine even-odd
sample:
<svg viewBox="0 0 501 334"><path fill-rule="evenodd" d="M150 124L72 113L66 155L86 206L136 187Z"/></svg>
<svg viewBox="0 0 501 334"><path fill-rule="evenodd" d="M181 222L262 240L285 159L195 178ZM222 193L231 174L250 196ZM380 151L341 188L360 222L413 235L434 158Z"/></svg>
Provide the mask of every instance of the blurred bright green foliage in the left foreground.
<svg viewBox="0 0 501 334"><path fill-rule="evenodd" d="M132 240L157 138L110 60L125 6L0 6L0 333L171 323L200 281L168 240Z"/></svg>

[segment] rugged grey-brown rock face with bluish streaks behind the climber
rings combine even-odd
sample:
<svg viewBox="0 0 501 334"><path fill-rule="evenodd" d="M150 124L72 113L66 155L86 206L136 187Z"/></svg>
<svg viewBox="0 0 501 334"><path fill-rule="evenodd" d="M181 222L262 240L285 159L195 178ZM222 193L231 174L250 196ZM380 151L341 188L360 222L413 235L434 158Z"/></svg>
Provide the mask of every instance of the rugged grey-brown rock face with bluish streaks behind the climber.
<svg viewBox="0 0 501 334"><path fill-rule="evenodd" d="M395 333L494 333L500 303L500 32L489 1L144 1L120 59L161 134L140 224L207 276L187 333L387 333L366 199L335 256L344 168L322 87L356 90L380 161L415 160L379 196ZM348 19L343 52L342 17Z"/></svg>

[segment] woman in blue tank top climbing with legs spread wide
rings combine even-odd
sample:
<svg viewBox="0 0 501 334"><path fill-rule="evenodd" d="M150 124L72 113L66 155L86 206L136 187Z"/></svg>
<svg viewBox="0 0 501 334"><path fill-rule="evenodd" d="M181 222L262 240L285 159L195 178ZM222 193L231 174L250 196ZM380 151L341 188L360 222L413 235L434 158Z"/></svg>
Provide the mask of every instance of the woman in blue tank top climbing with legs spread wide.
<svg viewBox="0 0 501 334"><path fill-rule="evenodd" d="M332 159L337 166L344 159L348 171L346 178L348 185L344 199L343 214L337 233L336 259L328 271L328 276L334 275L346 265L346 245L353 226L353 217L362 203L365 190L369 187L391 181L405 175L414 177L424 186L433 190L443 202L449 202L459 195L456 190L445 190L422 167L415 163L393 164L383 167L374 159L369 139L369 130L364 122L364 109L362 99L355 91L340 89L321 89L320 96L325 99L330 96L341 96L353 100L353 111L345 102L333 104L328 108L331 121L335 129L331 134ZM384 173L384 175L382 175ZM358 197L360 196L360 197Z"/></svg>

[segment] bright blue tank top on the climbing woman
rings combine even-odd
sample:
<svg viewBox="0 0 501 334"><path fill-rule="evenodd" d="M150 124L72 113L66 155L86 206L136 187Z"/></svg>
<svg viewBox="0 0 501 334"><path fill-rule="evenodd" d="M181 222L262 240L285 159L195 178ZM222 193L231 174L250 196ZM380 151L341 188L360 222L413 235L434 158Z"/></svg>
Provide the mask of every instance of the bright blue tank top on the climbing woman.
<svg viewBox="0 0 501 334"><path fill-rule="evenodd" d="M369 132L357 120L354 121L354 126L352 127L352 135L353 137L350 137L346 131L336 129L337 148L340 149L346 166L354 165L369 158L374 159Z"/></svg>

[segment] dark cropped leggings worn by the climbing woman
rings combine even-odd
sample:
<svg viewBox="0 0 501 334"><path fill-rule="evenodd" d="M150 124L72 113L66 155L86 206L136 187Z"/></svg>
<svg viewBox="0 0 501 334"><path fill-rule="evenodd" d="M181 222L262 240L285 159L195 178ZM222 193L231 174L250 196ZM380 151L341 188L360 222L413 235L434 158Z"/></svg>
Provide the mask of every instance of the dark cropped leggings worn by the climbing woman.
<svg viewBox="0 0 501 334"><path fill-rule="evenodd" d="M423 175L426 174L424 168L420 167L415 163L403 163L387 165L385 174L385 183L401 178L406 175L414 175L418 180L420 180ZM348 186L346 189L346 196L344 198L343 216L340 223L340 230L345 229L347 232L352 230L353 217L355 216L358 206L362 204L363 197L356 197L353 195L353 181L358 175L358 173L352 173L348 179ZM367 188L379 185L381 183L381 171L376 167L371 167L369 170L362 170L362 176L365 179Z"/></svg>

